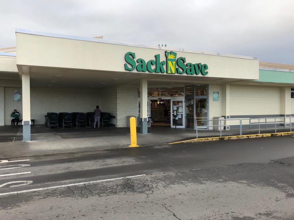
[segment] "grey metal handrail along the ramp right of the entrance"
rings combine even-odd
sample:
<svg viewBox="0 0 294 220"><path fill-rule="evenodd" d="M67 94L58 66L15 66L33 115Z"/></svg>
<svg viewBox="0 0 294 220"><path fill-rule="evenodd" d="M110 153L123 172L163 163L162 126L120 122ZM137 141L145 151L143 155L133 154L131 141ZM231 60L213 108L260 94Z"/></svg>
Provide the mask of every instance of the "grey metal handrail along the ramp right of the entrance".
<svg viewBox="0 0 294 220"><path fill-rule="evenodd" d="M239 121L240 123L239 124L235 124L236 126L239 126L240 127L240 135L242 135L242 126L243 125L249 125L250 126L250 130L251 130L251 119L255 119L255 120L258 120L258 122L254 123L254 124L258 124L258 134L260 134L260 125L261 124L275 124L275 133L277 133L277 123L281 123L283 122L284 123L284 127L285 127L285 124L290 124L290 132L292 132L292 122L291 122L291 118L294 118L294 117L266 117L266 118L243 118L243 119L207 119L207 120L196 120L196 138L198 138L198 126L197 126L197 122L198 121L219 121L219 125L206 125L206 127L220 127L220 137L221 137L221 127L223 127L224 125L221 125L221 121ZM273 121L270 121L268 122L267 120L265 120L265 122L260 122L260 119L275 119L274 122ZM277 121L277 119L284 119L283 121ZM286 122L286 119L289 119L289 122ZM249 120L249 124L243 124L243 120ZM209 123L208 123L209 124ZM203 127L203 126L201 126Z"/></svg>

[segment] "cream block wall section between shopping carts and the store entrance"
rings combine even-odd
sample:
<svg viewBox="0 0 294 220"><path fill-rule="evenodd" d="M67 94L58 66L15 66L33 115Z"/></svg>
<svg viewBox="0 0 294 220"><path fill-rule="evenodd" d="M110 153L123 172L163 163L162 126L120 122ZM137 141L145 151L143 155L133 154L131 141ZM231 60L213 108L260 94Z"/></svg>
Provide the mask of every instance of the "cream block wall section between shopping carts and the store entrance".
<svg viewBox="0 0 294 220"><path fill-rule="evenodd" d="M117 126L127 127L127 116L137 118L138 88L135 86L117 87Z"/></svg>

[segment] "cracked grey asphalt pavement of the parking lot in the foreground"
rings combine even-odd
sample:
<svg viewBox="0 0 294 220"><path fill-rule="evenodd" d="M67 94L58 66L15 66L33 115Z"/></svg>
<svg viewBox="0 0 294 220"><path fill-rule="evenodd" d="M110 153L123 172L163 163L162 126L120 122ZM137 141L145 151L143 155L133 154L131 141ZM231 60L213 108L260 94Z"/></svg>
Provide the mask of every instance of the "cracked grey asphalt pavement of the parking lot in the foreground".
<svg viewBox="0 0 294 220"><path fill-rule="evenodd" d="M0 219L294 219L294 139L270 137L13 158ZM0 159L2 160L2 159ZM7 165L7 164L0 164ZM17 170L17 171L16 171ZM17 188L17 189L16 189Z"/></svg>

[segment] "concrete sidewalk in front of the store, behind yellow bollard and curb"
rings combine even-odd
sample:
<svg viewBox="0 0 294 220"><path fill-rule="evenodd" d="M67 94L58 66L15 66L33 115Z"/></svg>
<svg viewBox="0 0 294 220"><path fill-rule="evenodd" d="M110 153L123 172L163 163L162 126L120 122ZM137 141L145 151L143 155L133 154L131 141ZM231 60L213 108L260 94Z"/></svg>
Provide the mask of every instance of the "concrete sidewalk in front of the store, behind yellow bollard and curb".
<svg viewBox="0 0 294 220"><path fill-rule="evenodd" d="M279 128L281 131L289 129ZM137 130L139 132L139 129ZM262 133L274 132L264 129ZM243 134L256 134L256 130L243 130ZM224 136L238 135L239 130L222 131ZM220 131L200 130L198 137L219 137ZM196 138L194 129L152 127L152 133L137 133L139 146L165 145L170 142ZM78 129L47 129L43 125L32 126L32 141L22 140L22 127L0 127L0 158L35 156L105 149L128 148L129 128L101 127Z"/></svg>

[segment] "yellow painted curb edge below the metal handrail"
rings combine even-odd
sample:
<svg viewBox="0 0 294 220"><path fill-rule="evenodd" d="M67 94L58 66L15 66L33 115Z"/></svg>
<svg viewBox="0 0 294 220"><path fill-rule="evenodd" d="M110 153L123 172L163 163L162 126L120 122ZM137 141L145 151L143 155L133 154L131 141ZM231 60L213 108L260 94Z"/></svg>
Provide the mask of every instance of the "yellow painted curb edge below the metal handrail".
<svg viewBox="0 0 294 220"><path fill-rule="evenodd" d="M294 132L280 132L280 133L269 133L269 134L247 134L247 135L236 135L236 136L225 136L225 137L211 137L211 138L194 138L185 141L177 141L168 144L179 144L187 142L204 142L204 141L219 141L219 140L236 140L236 139L245 139L245 138L262 138L262 137L273 137L273 136L285 136L291 135Z"/></svg>

